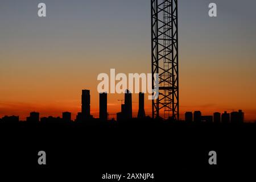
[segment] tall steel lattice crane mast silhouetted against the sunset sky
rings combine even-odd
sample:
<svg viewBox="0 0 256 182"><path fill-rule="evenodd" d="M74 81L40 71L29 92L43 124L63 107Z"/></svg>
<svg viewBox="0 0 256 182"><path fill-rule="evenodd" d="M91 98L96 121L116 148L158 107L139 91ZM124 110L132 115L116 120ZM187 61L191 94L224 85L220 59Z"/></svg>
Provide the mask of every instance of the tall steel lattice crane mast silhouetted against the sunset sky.
<svg viewBox="0 0 256 182"><path fill-rule="evenodd" d="M177 0L151 0L151 49L152 84L159 82L152 117L179 120Z"/></svg>

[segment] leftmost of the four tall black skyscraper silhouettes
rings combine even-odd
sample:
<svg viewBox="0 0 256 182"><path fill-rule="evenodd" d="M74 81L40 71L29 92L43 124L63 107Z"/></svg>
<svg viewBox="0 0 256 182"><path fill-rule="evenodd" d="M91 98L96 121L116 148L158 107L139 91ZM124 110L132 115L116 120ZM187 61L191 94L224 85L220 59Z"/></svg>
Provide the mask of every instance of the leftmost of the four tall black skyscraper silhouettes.
<svg viewBox="0 0 256 182"><path fill-rule="evenodd" d="M90 90L82 90L82 118L90 117Z"/></svg>

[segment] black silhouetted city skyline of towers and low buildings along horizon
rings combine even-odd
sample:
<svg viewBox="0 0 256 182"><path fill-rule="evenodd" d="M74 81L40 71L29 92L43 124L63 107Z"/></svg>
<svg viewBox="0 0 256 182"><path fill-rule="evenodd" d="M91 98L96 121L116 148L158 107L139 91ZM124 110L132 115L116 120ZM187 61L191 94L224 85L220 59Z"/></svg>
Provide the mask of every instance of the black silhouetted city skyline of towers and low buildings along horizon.
<svg viewBox="0 0 256 182"><path fill-rule="evenodd" d="M100 107L99 107L99 118L100 121L115 121L114 118L108 117L108 94L107 93L100 93ZM126 90L125 93L125 104L121 104L121 112L117 113L116 121L129 121L134 119L132 115L132 94L129 90ZM138 109L138 119L146 119L151 118L151 116L145 114L144 111L144 93L139 93L139 109ZM224 111L224 113L215 112L213 115L202 115L201 111L187 111L184 113L184 120L179 120L180 122L187 122L187 123L244 123L245 114L242 110L232 111L232 113L228 113ZM86 122L92 121L95 119L93 115L90 114L90 90L82 90L81 95L81 112L77 113L76 115L76 122ZM96 118L97 119L97 118ZM163 118L157 118L163 119ZM156 120L157 120L156 119ZM169 121L174 121L173 118L165 119ZM17 123L19 122L19 116L7 116L0 118L0 122L7 122L7 123ZM64 111L62 113L62 118L60 117L42 117L40 118L40 113L32 111L30 116L27 117L26 122L28 123L61 123L61 122L71 122L72 121L72 113L69 111ZM255 121L256 123L256 121Z"/></svg>

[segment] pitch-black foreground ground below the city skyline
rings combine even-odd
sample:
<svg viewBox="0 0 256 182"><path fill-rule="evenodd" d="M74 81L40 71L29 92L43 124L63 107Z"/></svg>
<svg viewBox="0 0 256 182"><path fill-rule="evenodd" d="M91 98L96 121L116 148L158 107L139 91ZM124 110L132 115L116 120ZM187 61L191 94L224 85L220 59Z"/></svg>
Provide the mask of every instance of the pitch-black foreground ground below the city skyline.
<svg viewBox="0 0 256 182"><path fill-rule="evenodd" d="M0 138L1 173L72 181L117 181L102 180L105 173L154 173L154 180L122 181L256 173L255 124L1 123ZM46 166L38 164L39 151L46 151ZM209 151L217 152L216 166Z"/></svg>

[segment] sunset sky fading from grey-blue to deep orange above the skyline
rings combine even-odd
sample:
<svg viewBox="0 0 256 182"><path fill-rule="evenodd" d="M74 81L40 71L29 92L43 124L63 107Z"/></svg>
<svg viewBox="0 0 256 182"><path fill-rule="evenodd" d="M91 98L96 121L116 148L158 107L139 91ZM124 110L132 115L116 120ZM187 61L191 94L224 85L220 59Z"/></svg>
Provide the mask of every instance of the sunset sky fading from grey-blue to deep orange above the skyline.
<svg viewBox="0 0 256 182"><path fill-rule="evenodd" d="M38 3L47 6L39 18ZM208 16L217 3L217 18ZM242 109L256 120L256 1L179 0L180 114ZM0 1L0 117L39 111L60 116L91 90L97 75L151 72L149 0ZM134 115L138 96L133 96ZM110 117L123 95L109 95ZM146 113L151 102L146 101Z"/></svg>

